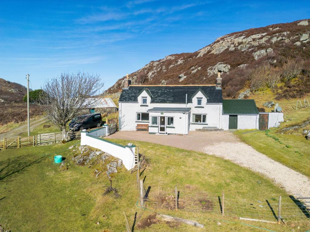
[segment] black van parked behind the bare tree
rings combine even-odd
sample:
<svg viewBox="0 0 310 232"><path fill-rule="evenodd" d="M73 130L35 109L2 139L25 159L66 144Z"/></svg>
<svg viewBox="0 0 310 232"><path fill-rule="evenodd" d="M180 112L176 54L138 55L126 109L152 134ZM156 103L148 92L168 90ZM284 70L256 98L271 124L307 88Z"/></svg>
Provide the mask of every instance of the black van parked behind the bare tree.
<svg viewBox="0 0 310 232"><path fill-rule="evenodd" d="M86 114L73 118L69 123L69 128L74 131L82 131L91 127L100 127L101 125L101 114Z"/></svg>

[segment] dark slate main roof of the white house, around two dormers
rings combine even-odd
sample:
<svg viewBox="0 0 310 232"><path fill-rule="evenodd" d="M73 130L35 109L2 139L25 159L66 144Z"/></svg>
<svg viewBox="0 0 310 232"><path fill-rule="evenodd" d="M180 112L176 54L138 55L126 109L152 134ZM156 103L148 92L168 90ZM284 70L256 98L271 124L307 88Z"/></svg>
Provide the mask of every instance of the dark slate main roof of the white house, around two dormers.
<svg viewBox="0 0 310 232"><path fill-rule="evenodd" d="M222 103L222 89L216 89L215 85L211 86L193 86L193 85L180 85L180 86L129 86L123 89L119 102L137 102L139 93L144 89L148 89L151 93L151 103L184 103L185 95L187 94L187 102L192 103L192 96L200 88L208 97L208 103Z"/></svg>

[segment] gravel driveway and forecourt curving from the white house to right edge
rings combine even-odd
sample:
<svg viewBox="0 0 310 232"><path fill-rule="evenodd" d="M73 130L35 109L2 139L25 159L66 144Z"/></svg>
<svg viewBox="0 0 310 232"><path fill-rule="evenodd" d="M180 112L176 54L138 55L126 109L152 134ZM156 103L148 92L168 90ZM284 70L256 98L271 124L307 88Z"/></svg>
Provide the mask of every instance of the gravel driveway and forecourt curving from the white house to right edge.
<svg viewBox="0 0 310 232"><path fill-rule="evenodd" d="M145 141L215 155L267 176L289 194L296 197L310 196L308 177L259 153L228 131L190 131L188 135L153 135L147 131L118 131L108 138Z"/></svg>

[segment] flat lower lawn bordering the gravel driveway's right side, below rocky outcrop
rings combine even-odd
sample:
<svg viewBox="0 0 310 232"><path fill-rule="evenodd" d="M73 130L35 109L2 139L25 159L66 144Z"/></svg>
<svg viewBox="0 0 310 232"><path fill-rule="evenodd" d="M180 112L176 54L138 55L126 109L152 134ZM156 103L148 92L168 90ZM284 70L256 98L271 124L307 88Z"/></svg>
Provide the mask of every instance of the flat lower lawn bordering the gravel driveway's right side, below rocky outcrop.
<svg viewBox="0 0 310 232"><path fill-rule="evenodd" d="M310 143L303 136L281 135L273 129L267 137L265 131L239 130L235 134L255 150L287 167L310 177ZM287 148L288 145L290 148Z"/></svg>

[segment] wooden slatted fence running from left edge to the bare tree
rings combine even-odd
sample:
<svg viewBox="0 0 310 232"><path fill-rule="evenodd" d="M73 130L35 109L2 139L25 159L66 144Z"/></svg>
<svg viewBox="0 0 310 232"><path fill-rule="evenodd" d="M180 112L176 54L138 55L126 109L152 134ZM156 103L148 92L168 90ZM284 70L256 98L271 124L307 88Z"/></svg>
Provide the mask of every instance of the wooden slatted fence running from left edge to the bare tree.
<svg viewBox="0 0 310 232"><path fill-rule="evenodd" d="M68 135L68 140L76 140L81 138L80 131L70 131ZM0 150L10 149L10 148L21 148L30 146L41 146L49 143L57 143L62 140L62 132L38 134L29 137L20 137L13 139L3 138L0 141Z"/></svg>

